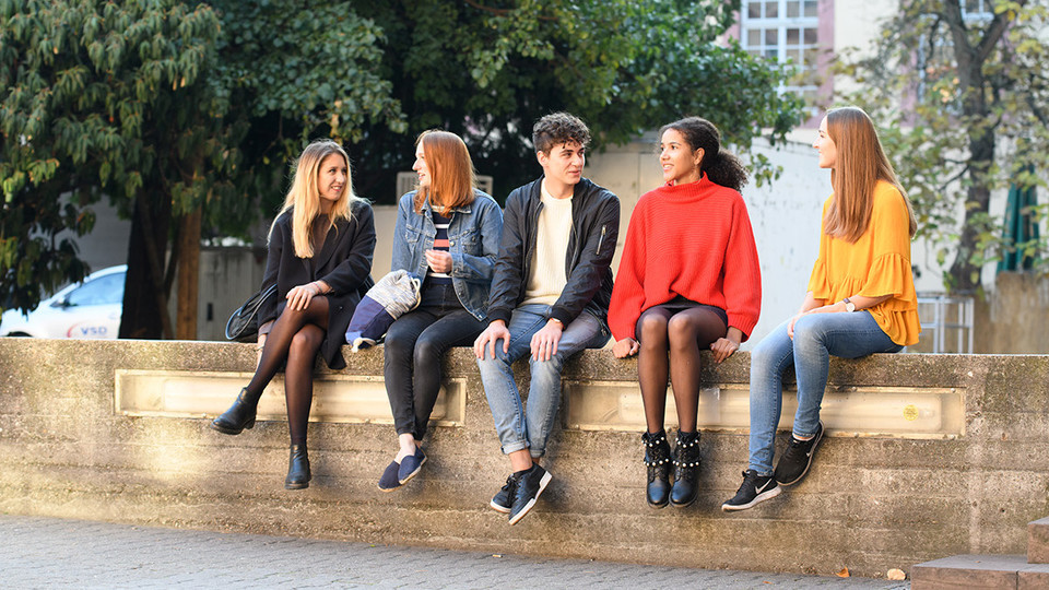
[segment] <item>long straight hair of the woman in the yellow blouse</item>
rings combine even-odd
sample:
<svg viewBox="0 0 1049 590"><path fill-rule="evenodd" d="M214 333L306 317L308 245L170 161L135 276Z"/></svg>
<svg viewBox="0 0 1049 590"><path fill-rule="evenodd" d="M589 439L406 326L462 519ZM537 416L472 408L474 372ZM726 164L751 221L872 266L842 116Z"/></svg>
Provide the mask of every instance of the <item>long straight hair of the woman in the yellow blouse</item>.
<svg viewBox="0 0 1049 590"><path fill-rule="evenodd" d="M871 224L874 187L879 180L884 180L904 197L914 237L918 231L915 210L896 179L896 172L885 156L877 130L867 113L853 106L828 110L827 134L837 155L830 170L834 200L823 219L824 233L852 244L860 239Z"/></svg>

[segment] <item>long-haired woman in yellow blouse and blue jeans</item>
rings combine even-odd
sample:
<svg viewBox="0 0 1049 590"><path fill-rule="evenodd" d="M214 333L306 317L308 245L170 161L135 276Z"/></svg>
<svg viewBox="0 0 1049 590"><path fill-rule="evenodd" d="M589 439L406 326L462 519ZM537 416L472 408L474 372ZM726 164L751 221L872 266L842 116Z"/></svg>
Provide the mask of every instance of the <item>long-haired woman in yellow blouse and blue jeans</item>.
<svg viewBox="0 0 1049 590"><path fill-rule="evenodd" d="M827 113L813 148L830 168L820 258L798 315L751 354L750 464L722 510L745 510L801 481L823 437L820 404L829 355L858 358L918 342L918 297L910 268L917 223L870 117L856 107ZM798 378L798 411L786 452L773 470L782 376Z"/></svg>

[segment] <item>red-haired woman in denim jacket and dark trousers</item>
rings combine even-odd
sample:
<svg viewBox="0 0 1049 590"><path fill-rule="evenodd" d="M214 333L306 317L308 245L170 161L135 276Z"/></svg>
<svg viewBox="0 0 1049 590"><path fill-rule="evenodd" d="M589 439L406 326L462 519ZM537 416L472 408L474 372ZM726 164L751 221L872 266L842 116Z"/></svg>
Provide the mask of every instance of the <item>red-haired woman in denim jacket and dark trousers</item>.
<svg viewBox="0 0 1049 590"><path fill-rule="evenodd" d="M473 162L459 135L426 131L415 145L419 190L398 204L391 270L423 279L422 303L386 334L384 376L400 450L379 479L384 492L426 462L420 447L440 390L440 357L472 344L486 326L503 232L503 211L474 188Z"/></svg>

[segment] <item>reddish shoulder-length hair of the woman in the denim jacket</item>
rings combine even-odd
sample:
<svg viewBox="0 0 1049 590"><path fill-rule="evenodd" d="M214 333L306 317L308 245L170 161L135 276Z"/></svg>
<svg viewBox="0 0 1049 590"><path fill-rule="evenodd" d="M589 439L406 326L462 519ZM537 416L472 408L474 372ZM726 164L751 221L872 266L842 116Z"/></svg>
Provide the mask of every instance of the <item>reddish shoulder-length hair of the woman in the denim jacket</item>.
<svg viewBox="0 0 1049 590"><path fill-rule="evenodd" d="M462 138L432 129L423 131L415 140L415 146L420 145L423 146L423 157L429 170L429 187L420 187L415 192L415 212L423 212L426 199L429 199L431 206L445 216L451 209L472 203L476 175Z"/></svg>

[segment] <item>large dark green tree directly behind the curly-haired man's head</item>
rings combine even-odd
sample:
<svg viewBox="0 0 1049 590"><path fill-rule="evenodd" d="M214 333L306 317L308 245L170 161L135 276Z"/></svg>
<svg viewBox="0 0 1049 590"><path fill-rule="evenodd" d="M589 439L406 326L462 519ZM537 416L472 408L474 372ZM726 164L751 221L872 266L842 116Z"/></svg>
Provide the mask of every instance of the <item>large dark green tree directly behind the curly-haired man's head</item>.
<svg viewBox="0 0 1049 590"><path fill-rule="evenodd" d="M352 146L361 191L391 202L411 167L415 135L462 135L497 198L535 175L532 122L554 110L581 116L596 144L621 143L684 115L715 121L744 153L801 119L780 95L783 73L721 43L739 2L549 0L416 2L369 11L386 33L381 73L393 83L408 133L365 127ZM770 168L755 158L759 179Z"/></svg>

